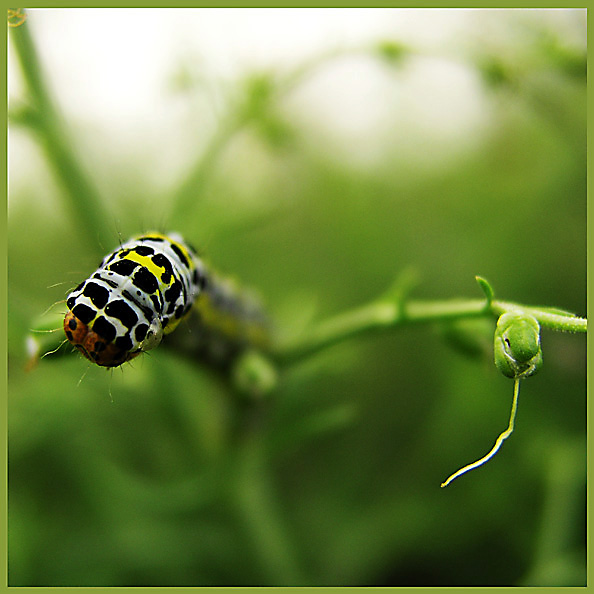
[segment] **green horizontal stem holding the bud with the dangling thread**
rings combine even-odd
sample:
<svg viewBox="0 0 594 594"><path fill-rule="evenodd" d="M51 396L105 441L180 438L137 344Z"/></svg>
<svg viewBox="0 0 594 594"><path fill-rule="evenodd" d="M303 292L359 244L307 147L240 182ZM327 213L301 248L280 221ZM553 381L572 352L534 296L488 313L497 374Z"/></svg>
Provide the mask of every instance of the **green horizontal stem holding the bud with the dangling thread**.
<svg viewBox="0 0 594 594"><path fill-rule="evenodd" d="M522 310L539 323L563 332L586 332L587 320L571 315L543 311L518 303L485 300L449 301L376 301L369 305L339 314L311 329L307 335L281 344L273 356L282 365L304 359L333 344L353 336L396 328L407 324L446 322L462 318L499 317L506 311Z"/></svg>

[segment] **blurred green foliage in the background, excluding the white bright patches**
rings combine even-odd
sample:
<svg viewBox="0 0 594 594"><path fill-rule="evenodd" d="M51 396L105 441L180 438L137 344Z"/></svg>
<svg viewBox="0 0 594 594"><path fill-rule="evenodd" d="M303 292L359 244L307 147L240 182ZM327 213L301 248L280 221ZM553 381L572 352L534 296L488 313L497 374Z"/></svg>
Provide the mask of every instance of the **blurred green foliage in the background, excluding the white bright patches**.
<svg viewBox="0 0 594 594"><path fill-rule="evenodd" d="M24 371L32 321L118 233L163 224L257 288L281 333L365 303L408 266L422 298L479 297L481 274L503 299L585 314L585 54L553 31L502 30L466 57L489 123L445 165L439 147L419 165L389 142L353 165L265 73L237 82L216 146L172 190L183 216L151 219L179 204L150 193L151 163L121 187L107 159L92 163L111 245L105 229L80 233L47 159L31 159L9 211L9 585L585 584L584 336L543 331L513 437L447 489L509 414L482 323L474 356L443 340L451 328L337 345L257 405L165 349L111 372L74 354ZM367 57L398 85L417 65L407 52L387 40Z"/></svg>

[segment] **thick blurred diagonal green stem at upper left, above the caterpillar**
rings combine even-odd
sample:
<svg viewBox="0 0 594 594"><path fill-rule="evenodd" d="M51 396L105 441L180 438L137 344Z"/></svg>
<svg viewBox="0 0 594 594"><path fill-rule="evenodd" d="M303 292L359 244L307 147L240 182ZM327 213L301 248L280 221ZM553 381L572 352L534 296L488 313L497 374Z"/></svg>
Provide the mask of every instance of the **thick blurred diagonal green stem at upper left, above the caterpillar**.
<svg viewBox="0 0 594 594"><path fill-rule="evenodd" d="M21 121L37 133L47 160L64 187L64 197L75 223L72 226L84 236L97 238L100 245L110 245L113 241L111 218L70 143L46 85L29 21L11 29L10 35L29 92L29 105Z"/></svg>

